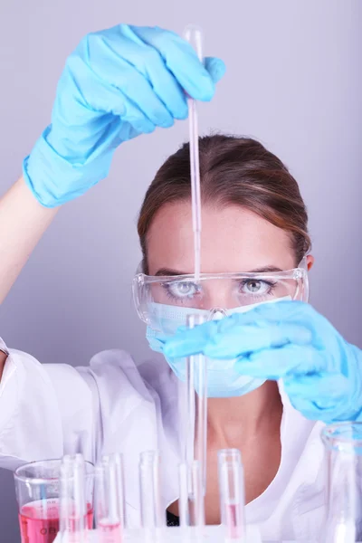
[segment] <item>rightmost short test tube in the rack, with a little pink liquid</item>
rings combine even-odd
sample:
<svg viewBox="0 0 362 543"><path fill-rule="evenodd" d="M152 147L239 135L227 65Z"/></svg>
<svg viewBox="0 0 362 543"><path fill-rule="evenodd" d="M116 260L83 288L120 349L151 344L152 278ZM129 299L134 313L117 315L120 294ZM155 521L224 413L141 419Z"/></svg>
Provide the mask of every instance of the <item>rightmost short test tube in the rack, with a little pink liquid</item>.
<svg viewBox="0 0 362 543"><path fill-rule="evenodd" d="M218 452L220 510L226 538L242 540L245 535L242 455L237 449Z"/></svg>

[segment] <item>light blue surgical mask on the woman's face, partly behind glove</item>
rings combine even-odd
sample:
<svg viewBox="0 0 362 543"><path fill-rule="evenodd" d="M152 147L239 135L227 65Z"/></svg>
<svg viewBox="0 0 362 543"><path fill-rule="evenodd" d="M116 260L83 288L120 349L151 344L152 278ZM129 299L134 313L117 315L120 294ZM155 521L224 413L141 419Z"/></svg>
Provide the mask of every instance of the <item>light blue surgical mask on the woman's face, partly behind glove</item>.
<svg viewBox="0 0 362 543"><path fill-rule="evenodd" d="M279 299L281 300L281 299ZM282 300L291 300L290 296L283 298ZM276 300L268 300L263 303L271 303ZM176 330L185 325L186 317L190 314L190 308L181 308L177 306L169 306L161 303L152 304L153 314L157 314L157 320L159 322L159 328L163 332L155 329L147 328L146 337L148 339L149 347L158 352L163 353L163 346L170 338L176 333ZM227 310L228 315L233 313L245 313L251 310L253 307L260 305L259 303L234 308L233 310ZM210 310L192 310L193 314L205 315L210 319ZM222 311L214 311L212 319L221 319L224 317ZM164 355L165 356L165 355ZM165 357L167 363L172 368L176 376L182 381L186 381L186 358L171 358ZM236 359L207 359L207 396L212 397L230 397L241 396L248 392L252 392L259 386L265 383L265 379L258 379L249 376L241 376L235 369ZM196 385L197 387L197 385Z"/></svg>

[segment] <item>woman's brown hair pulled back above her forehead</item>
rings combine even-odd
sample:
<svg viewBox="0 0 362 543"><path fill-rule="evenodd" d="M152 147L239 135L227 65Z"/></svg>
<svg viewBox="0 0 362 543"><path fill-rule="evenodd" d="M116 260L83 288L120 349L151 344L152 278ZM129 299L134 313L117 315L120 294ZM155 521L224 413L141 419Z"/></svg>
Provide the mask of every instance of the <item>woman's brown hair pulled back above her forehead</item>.
<svg viewBox="0 0 362 543"><path fill-rule="evenodd" d="M308 214L298 183L281 160L252 138L213 135L199 140L204 204L240 205L291 233L296 264L310 250ZM162 205L191 197L189 145L159 168L138 218L143 269L148 273L147 235Z"/></svg>

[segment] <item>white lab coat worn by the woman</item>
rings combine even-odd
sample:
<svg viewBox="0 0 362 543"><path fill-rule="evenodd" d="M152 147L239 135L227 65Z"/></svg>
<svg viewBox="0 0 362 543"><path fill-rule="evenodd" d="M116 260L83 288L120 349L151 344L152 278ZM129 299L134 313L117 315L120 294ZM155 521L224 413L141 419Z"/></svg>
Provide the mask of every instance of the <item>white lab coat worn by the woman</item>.
<svg viewBox="0 0 362 543"><path fill-rule="evenodd" d="M0 347L5 344L0 340ZM66 351L64 351L66 353ZM123 453L129 527L138 526L138 455L162 455L165 509L177 499L177 382L155 358L136 366L121 350L101 352L89 367L41 365L9 349L0 385L0 466L83 452ZM246 506L262 538L316 540L325 514L321 423L306 420L283 393L281 465L271 485Z"/></svg>

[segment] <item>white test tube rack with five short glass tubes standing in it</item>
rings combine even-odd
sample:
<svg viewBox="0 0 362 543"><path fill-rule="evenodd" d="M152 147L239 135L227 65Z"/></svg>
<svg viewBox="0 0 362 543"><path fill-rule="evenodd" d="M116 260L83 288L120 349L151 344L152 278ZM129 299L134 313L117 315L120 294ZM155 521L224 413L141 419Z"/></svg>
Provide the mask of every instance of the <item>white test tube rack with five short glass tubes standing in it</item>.
<svg viewBox="0 0 362 543"><path fill-rule="evenodd" d="M222 523L205 525L205 490L202 463L179 465L179 527L167 527L161 499L161 462L157 451L142 452L139 461L140 528L129 527L125 517L122 458L103 456L95 468L96 530L86 521L85 462L81 454L65 456L61 467L59 543L130 543L141 541L210 541L258 543L256 526L244 520L243 464L236 449L219 452Z"/></svg>

